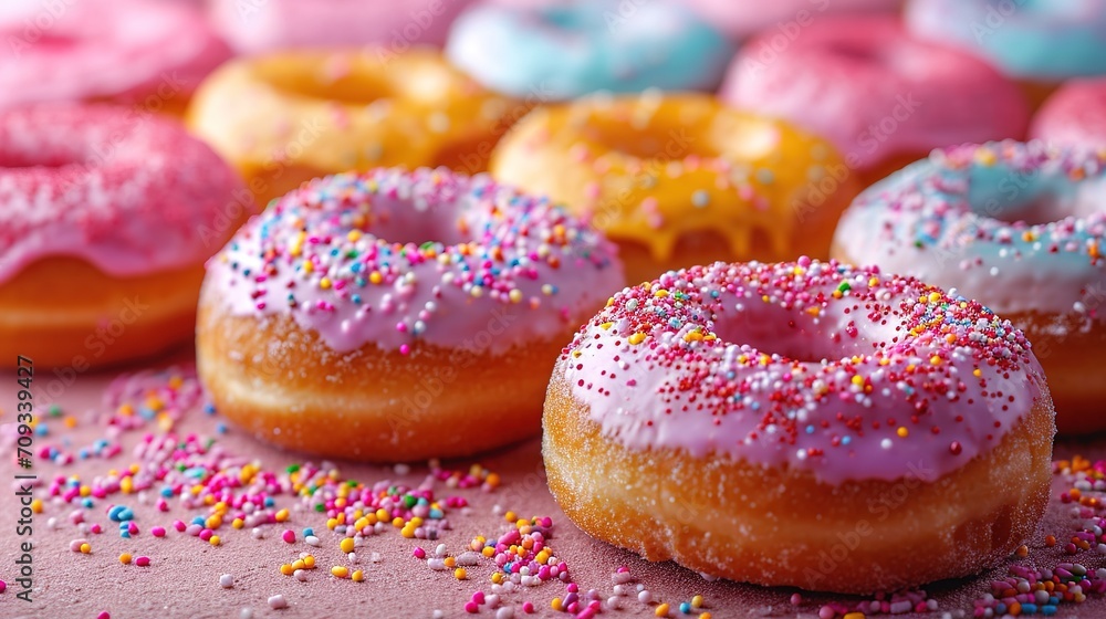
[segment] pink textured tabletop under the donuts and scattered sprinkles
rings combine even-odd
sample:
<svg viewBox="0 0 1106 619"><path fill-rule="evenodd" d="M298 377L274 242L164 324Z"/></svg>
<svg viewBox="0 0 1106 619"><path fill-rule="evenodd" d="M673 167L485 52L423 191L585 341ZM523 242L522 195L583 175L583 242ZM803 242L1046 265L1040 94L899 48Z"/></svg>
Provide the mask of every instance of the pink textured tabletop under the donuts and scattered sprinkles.
<svg viewBox="0 0 1106 619"><path fill-rule="evenodd" d="M175 360L189 363L190 352L178 353ZM166 360L163 365L168 363ZM102 426L97 422L97 417L101 416L97 409L105 386L115 375L116 373L108 371L77 376L72 386L63 388L63 392L56 398L65 413L77 419L76 428L69 431L74 445L85 444L103 436ZM52 387L54 381L58 385ZM61 379L54 373L38 370L34 388L39 406L44 408L49 394L56 394L60 386ZM0 422L6 424L14 419L15 390L15 377L11 373L0 375ZM178 431L181 434L198 432L217 436L216 424L219 421L218 417L208 417L198 410L191 411L184 417ZM52 420L50 427L49 437L35 438L36 447L41 448L48 442L61 444L62 437L66 433L63 424L59 420ZM2 434L8 439L3 441L3 463L0 464L0 471L10 479L10 475L19 472L12 463L11 428L6 428ZM140 434L142 432L124 434L127 449L123 455L108 460L79 461L69 466L35 459L33 472L45 479L52 479L56 474L80 474L83 479L91 479L93 475L104 474L111 468L126 466L132 461L129 447L139 440ZM260 444L234 429L219 436L218 444L227 452L258 460L270 470L282 470L290 463L302 461L295 454ZM1057 445L1057 455L1068 457L1072 453L1106 455L1106 441L1099 439ZM455 528L445 532L440 538L450 554L465 549L474 535L498 535L507 531L503 517L492 513L493 505L499 504L525 516L551 516L554 521L554 536L550 545L572 567L573 579L578 583L581 590L598 589L603 599L612 595L612 573L618 566L626 565L635 577L635 586L644 585L654 594L655 599L674 605L670 617L685 617L675 607L680 601L689 600L695 594L703 596L706 609L714 617L816 617L822 602L849 600L839 596L804 594L805 600L795 607L789 602L794 592L790 589L764 589L726 581L708 583L678 566L651 565L629 553L591 539L564 518L550 496L535 440L487 454L480 462L502 475L503 483L498 490L491 493L480 490L446 491L442 484L436 485L439 493L457 494L470 501L467 513L450 513L450 522ZM469 463L465 461L450 464L452 468L467 469ZM396 474L394 470L384 466L349 463L342 464L341 469L344 476L365 483L392 479L418 484L426 474L425 466L420 465L413 466L407 474ZM1057 478L1055 495L1058 496L1066 489L1067 485ZM6 484L3 491L7 494L0 501L0 579L8 583L8 589L0 594L0 615L4 617L96 617L105 610L111 612L113 619L154 616L239 617L240 609L247 607L253 609L253 617L430 617L434 609L441 609L446 617L463 617L463 604L473 591L491 591L491 583L488 580L492 567L490 560L482 559L478 566L469 568L468 580L458 581L449 573L431 571L425 562L410 556L416 545L430 549L435 543L405 539L396 529L389 528L368 538L367 546L359 554L379 553L380 562L373 564L364 560L362 567L365 569L366 581L357 584L338 580L326 574L331 565L347 562L340 560L337 537L326 531L322 516L314 512L293 508L289 528L299 532L305 526L314 527L323 542L320 548L311 548L302 541L295 545L285 544L280 539L280 531L284 527L279 525L264 527L267 535L261 541L253 539L248 529L233 531L225 526L219 532L223 545L211 547L169 527L174 520L187 521L197 514L196 511L182 510L176 502L170 502L170 511L160 514L153 507L153 500L142 505L135 495L123 500L117 499L121 495L116 495L97 501L97 506L88 510L88 521L98 522L105 527L101 535L83 536L92 545L90 555L70 550L70 542L82 537L67 518L72 506L46 501L45 513L34 517L34 601L27 604L15 598L20 590L14 583L13 573L13 560L20 542L15 535L17 503L10 486ZM142 527L142 532L132 539L121 538L117 525L107 520L105 512L113 499L135 510L135 522ZM293 507L298 502L282 496L278 504ZM1103 566L1103 558L1093 550L1079 553L1075 557L1064 555L1062 546L1081 522L1070 514L1070 505L1053 501L1045 523L1030 542L1030 556L1019 559L1019 563L1053 567L1061 562L1075 560L1092 569ZM59 521L58 528L53 531L45 526L51 516ZM157 525L169 528L165 538L150 535L149 529ZM1053 548L1044 547L1043 538L1046 533L1055 534L1061 544ZM312 550L319 557L321 566L310 573L305 583L282 576L278 571L282 563L294 559L301 550ZM123 552L149 556L152 565L145 568L121 565L117 557ZM223 589L219 586L221 574L234 576L232 588ZM942 612L949 612L952 617L970 617L972 600L987 592L991 579L1004 574L1005 569L1002 567L977 579L937 584L929 591L938 600L938 611L899 617L940 617ZM566 617L550 609L550 600L563 597L564 592L564 586L547 583L522 592L504 595L503 600L504 604L515 605L517 609L520 609L524 600L531 600L538 609L534 615L536 617ZM271 610L265 600L275 594L282 594L290 607ZM641 604L636 599L636 589L634 594L622 598L622 610L605 615L653 616L656 605ZM1104 613L1106 602L1100 597L1092 597L1082 606L1062 607L1058 616L1102 617ZM483 607L479 616L492 617L494 613ZM517 616L522 613L518 612Z"/></svg>

